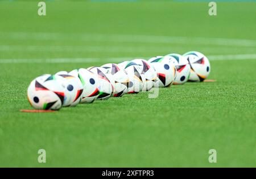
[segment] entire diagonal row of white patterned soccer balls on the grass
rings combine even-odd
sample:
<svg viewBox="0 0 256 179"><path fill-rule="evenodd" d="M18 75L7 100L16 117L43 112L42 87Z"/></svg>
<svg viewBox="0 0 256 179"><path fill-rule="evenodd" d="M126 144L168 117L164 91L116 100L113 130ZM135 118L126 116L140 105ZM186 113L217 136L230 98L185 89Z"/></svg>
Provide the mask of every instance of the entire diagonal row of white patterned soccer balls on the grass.
<svg viewBox="0 0 256 179"><path fill-rule="evenodd" d="M148 59L134 59L122 63L108 63L101 67L60 71L42 75L28 87L28 101L35 109L60 109L79 103L93 103L110 96L150 91L153 87L171 84L202 82L210 73L208 58L199 52L183 56L168 54Z"/></svg>

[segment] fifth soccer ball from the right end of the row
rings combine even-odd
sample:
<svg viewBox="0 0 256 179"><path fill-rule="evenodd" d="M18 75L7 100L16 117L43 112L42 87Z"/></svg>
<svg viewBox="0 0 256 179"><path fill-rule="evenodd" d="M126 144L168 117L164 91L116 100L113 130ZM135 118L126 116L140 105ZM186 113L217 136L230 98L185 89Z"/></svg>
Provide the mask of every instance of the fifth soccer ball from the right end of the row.
<svg viewBox="0 0 256 179"><path fill-rule="evenodd" d="M121 64L122 66L123 64ZM142 67L134 62L126 62L125 71L129 78L129 87L127 93L138 93L142 91L144 76L141 75Z"/></svg>

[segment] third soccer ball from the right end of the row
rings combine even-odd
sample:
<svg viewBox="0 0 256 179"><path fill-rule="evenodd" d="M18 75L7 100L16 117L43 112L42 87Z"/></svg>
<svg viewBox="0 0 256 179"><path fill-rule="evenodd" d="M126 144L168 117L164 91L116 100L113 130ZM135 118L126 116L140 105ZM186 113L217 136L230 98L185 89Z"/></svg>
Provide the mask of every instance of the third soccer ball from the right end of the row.
<svg viewBox="0 0 256 179"><path fill-rule="evenodd" d="M148 59L148 62L154 67L158 80L155 87L169 87L176 78L176 67L170 57L157 56Z"/></svg>

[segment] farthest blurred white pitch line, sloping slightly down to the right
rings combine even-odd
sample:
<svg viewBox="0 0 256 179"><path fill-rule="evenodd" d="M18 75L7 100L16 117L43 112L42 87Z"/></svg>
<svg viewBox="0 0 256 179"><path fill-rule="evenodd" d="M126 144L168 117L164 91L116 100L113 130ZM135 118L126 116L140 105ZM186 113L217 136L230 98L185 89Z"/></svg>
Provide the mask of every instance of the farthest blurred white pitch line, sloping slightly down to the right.
<svg viewBox="0 0 256 179"><path fill-rule="evenodd" d="M72 40L99 42L144 42L153 44L197 44L220 46L256 46L256 40L225 39L213 37L176 37L156 35L103 35L88 33L51 33L51 32L0 32L0 39L14 40Z"/></svg>

